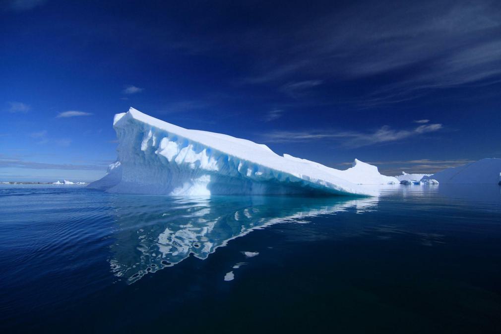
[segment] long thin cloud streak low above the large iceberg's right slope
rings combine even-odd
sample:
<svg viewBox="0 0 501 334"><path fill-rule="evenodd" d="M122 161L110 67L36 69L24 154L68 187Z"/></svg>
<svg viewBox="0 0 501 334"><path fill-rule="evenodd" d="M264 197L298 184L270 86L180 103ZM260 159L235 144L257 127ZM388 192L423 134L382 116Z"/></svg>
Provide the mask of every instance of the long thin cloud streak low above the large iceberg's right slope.
<svg viewBox="0 0 501 334"><path fill-rule="evenodd" d="M380 143L403 140L420 134L435 132L442 124L419 125L413 129L396 130L384 125L373 132L311 130L311 131L272 131L264 136L267 142L301 142L314 140L334 140L348 148L356 148Z"/></svg>

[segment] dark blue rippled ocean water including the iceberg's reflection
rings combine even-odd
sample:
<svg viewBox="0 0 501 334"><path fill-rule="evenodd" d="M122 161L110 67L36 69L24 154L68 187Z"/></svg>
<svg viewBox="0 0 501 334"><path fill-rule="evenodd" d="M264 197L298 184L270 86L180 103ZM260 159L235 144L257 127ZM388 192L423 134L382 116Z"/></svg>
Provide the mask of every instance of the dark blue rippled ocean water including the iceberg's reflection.
<svg viewBox="0 0 501 334"><path fill-rule="evenodd" d="M501 187L0 186L2 333L501 332Z"/></svg>

